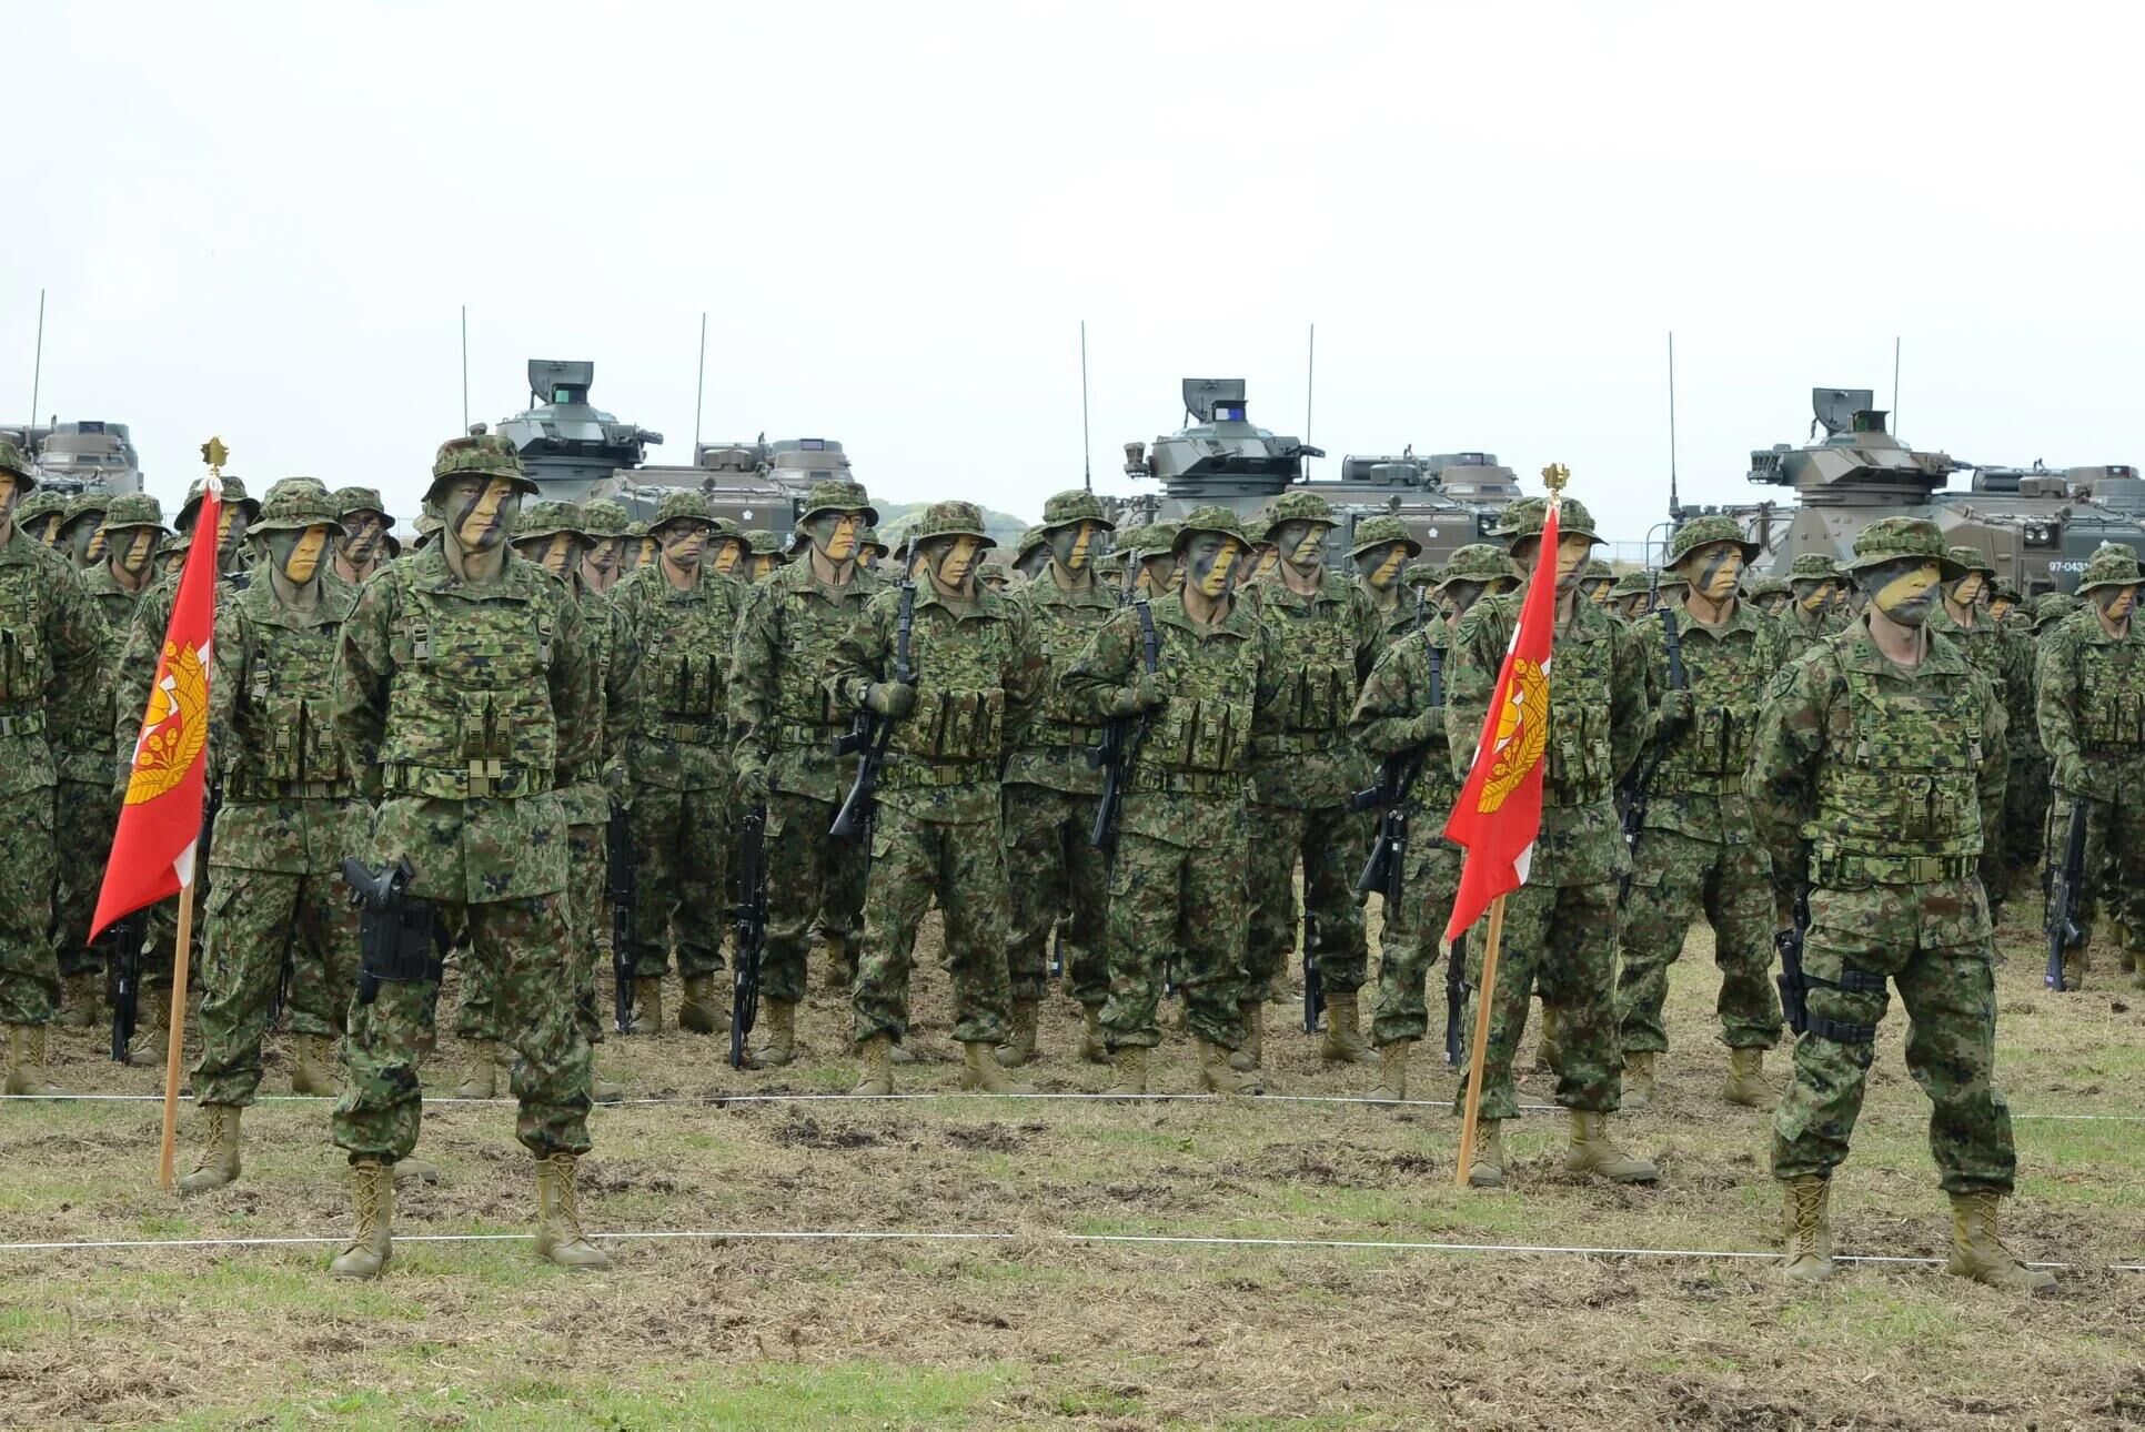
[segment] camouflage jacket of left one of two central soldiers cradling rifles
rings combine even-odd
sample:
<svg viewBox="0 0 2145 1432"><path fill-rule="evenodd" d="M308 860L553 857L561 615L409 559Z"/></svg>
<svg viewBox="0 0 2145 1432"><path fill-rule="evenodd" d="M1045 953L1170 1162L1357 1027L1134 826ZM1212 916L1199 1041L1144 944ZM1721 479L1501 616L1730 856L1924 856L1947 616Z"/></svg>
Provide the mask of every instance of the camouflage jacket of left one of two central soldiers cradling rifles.
<svg viewBox="0 0 2145 1432"><path fill-rule="evenodd" d="M875 682L894 680L901 590L864 602L837 643L828 695L862 712ZM995 821L1006 752L1027 735L1042 695L1042 647L1019 602L976 587L948 602L916 583L909 686L916 710L894 722L879 772L879 800L920 821Z"/></svg>

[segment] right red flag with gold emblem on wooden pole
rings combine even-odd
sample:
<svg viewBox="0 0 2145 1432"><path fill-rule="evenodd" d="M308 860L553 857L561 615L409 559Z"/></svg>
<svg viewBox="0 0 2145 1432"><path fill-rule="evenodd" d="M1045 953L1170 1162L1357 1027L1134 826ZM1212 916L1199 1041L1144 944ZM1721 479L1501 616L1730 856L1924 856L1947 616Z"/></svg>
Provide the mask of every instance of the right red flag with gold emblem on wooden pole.
<svg viewBox="0 0 2145 1432"><path fill-rule="evenodd" d="M1482 918L1491 900L1527 883L1534 838L1542 834L1542 755L1549 748L1549 645L1557 626L1557 502L1549 499L1542 555L1519 626L1497 673L1489 720L1476 742L1467 785L1452 804L1446 840L1467 849L1461 892L1446 939Z"/></svg>

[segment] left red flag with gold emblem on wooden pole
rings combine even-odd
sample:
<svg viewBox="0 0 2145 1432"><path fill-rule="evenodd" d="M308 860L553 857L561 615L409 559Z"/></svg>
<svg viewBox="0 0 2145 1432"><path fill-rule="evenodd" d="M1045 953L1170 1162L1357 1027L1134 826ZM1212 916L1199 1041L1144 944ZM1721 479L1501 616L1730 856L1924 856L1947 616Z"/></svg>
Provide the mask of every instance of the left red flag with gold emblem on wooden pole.
<svg viewBox="0 0 2145 1432"><path fill-rule="evenodd" d="M223 529L223 487L210 478L193 519L193 547L178 575L172 626L157 658L142 735L135 740L127 804L112 836L105 887L97 896L90 939L144 905L193 881L193 847L202 838L208 791L208 641L217 630L217 568Z"/></svg>

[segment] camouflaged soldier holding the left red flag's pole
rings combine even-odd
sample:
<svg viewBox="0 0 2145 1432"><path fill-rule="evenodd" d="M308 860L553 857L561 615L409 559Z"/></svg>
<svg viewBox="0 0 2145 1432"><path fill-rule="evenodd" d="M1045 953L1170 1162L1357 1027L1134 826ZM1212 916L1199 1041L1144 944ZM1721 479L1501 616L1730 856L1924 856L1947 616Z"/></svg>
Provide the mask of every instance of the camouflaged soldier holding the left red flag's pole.
<svg viewBox="0 0 2145 1432"><path fill-rule="evenodd" d="M202 965L202 1059L193 1093L208 1145L178 1188L223 1188L240 1170L240 1110L262 1083L262 1040L283 986L296 1035L292 1093L335 1093L330 1048L358 978L358 924L343 860L369 810L335 737L335 645L356 590L332 575L341 536L324 491L281 491L251 532L266 581L217 607L208 682L210 752L223 806L210 845Z"/></svg>

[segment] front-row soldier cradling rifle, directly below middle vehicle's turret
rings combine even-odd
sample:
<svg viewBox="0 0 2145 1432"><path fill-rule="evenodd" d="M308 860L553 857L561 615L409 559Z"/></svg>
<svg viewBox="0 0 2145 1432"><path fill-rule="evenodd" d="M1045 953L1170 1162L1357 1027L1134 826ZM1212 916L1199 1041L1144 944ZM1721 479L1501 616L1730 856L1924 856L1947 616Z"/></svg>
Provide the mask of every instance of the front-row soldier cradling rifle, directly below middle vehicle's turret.
<svg viewBox="0 0 2145 1432"><path fill-rule="evenodd" d="M1266 1089L1255 1070L1229 1063L1244 1044L1251 748L1278 731L1287 677L1274 628L1231 592L1248 549L1236 512L1193 508L1169 549L1182 590L1113 615L1064 677L1098 720L1141 722L1109 877L1103 1033L1118 1065L1109 1091L1120 1095L1148 1091L1165 963L1175 965L1205 1089ZM1160 643L1154 671L1143 660L1150 628Z"/></svg>

